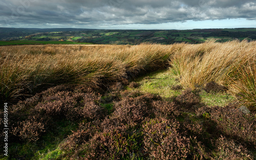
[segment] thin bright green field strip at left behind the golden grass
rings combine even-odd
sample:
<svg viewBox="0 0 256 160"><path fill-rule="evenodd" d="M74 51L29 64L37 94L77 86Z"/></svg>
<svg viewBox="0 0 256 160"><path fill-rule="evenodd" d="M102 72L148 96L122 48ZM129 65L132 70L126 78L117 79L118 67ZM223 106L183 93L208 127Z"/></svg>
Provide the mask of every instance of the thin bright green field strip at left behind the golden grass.
<svg viewBox="0 0 256 160"><path fill-rule="evenodd" d="M13 40L0 41L0 45L20 45L20 44L92 44L92 43L78 43L72 41L34 41L34 40Z"/></svg>

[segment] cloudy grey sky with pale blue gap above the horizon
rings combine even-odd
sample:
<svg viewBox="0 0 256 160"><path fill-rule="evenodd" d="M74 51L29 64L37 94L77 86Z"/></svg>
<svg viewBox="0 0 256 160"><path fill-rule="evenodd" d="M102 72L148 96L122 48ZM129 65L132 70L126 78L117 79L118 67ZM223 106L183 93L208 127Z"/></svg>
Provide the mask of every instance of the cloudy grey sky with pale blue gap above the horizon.
<svg viewBox="0 0 256 160"><path fill-rule="evenodd" d="M0 27L256 28L255 0L1 0Z"/></svg>

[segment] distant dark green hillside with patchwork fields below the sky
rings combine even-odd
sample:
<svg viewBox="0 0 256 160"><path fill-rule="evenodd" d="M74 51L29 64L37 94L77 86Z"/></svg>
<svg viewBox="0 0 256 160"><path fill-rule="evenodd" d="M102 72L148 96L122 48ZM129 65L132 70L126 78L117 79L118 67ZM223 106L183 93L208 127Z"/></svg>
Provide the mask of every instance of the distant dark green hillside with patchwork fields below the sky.
<svg viewBox="0 0 256 160"><path fill-rule="evenodd" d="M172 44L256 39L256 28L194 30L97 30L74 28L0 28L0 40L73 41L97 44Z"/></svg>

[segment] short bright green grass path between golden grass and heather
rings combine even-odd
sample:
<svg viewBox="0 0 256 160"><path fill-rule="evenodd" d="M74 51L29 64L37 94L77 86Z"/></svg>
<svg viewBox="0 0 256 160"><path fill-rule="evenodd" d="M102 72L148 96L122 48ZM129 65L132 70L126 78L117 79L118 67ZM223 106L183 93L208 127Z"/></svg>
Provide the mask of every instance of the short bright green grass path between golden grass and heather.
<svg viewBox="0 0 256 160"><path fill-rule="evenodd" d="M172 101L179 96L186 88L181 86L180 82L169 70L153 72L134 80L139 84L138 88L127 87L128 90L137 90L144 93L160 95L168 101ZM226 106L234 101L234 97L226 92L206 92L206 90L194 91L204 105L208 106Z"/></svg>

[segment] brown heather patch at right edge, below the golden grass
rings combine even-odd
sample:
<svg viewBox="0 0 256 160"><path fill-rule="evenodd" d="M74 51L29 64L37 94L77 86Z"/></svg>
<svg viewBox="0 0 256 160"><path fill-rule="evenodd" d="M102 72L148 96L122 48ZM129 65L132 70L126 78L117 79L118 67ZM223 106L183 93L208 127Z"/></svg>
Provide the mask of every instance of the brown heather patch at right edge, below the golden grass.
<svg viewBox="0 0 256 160"><path fill-rule="evenodd" d="M216 126L215 134L223 134L246 146L256 146L256 119L244 115L239 109L226 107L200 108L197 114Z"/></svg>

